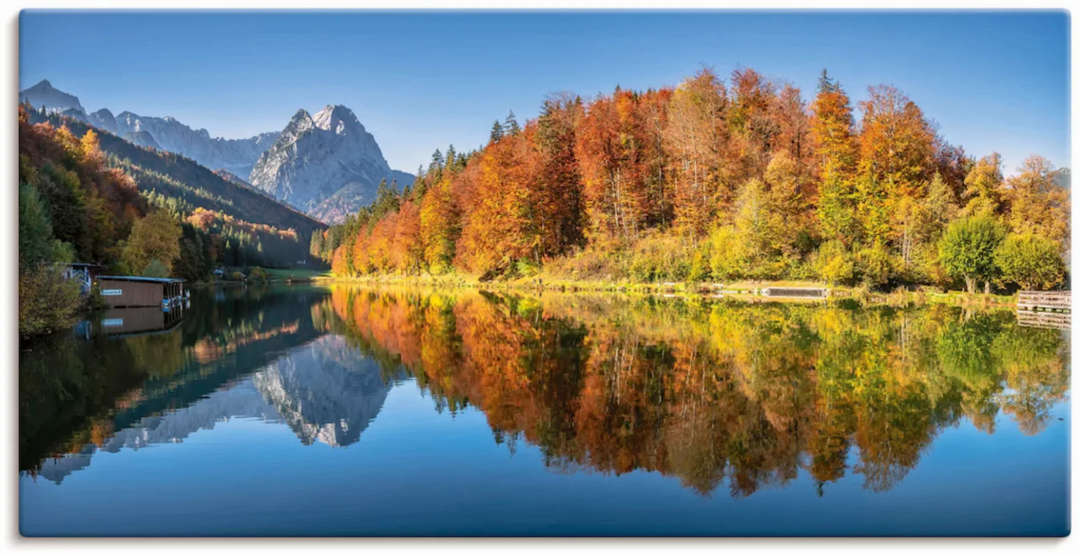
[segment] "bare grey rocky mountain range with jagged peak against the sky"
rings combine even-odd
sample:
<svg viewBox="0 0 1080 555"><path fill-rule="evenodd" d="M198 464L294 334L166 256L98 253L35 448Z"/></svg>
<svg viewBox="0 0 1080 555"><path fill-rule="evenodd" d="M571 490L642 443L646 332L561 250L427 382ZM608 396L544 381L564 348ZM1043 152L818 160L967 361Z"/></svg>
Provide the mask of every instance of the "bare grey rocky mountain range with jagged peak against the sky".
<svg viewBox="0 0 1080 555"><path fill-rule="evenodd" d="M235 184L255 189L320 221L336 223L375 199L383 179L402 188L415 176L390 168L375 137L356 114L328 105L314 116L296 112L281 131L247 139L210 136L171 116L108 109L87 113L79 98L42 81L19 93L19 102L80 121L139 147L186 156ZM231 176L231 177L229 177Z"/></svg>

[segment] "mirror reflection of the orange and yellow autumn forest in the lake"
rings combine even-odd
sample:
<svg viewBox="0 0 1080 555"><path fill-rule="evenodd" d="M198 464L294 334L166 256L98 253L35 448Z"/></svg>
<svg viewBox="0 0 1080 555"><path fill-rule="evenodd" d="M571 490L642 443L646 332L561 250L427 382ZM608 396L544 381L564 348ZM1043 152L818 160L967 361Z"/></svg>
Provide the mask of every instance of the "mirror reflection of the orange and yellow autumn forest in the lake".
<svg viewBox="0 0 1080 555"><path fill-rule="evenodd" d="M1068 339L1010 311L336 287L326 327L436 408L564 471L677 476L708 495L846 473L885 491L943 429L999 414L1039 433L1068 390ZM855 462L849 468L852 449Z"/></svg>

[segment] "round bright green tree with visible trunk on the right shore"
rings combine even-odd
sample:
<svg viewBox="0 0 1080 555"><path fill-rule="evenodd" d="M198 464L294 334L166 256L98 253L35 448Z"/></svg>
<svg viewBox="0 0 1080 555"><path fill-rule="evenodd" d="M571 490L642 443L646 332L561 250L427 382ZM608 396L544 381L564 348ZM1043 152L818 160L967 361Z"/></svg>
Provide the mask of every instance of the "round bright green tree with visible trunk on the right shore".
<svg viewBox="0 0 1080 555"><path fill-rule="evenodd" d="M945 228L937 242L937 251L945 272L954 278L963 278L969 293L975 292L975 281L994 278L997 265L994 252L1004 239L1005 231L993 217L960 218Z"/></svg>

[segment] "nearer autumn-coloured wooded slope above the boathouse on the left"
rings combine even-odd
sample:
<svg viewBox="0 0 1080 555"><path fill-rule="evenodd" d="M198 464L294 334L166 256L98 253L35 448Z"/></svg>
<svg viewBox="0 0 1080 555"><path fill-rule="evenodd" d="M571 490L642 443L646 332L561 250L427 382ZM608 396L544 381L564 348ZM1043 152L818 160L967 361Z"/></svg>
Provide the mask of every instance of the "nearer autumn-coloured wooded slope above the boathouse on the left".
<svg viewBox="0 0 1080 555"><path fill-rule="evenodd" d="M82 305L64 263L123 273L170 273L180 256L180 225L147 200L123 171L105 163L94 133L31 125L18 112L18 331L38 335L70 325ZM190 249L189 249L190 253ZM195 267L203 253L180 265Z"/></svg>

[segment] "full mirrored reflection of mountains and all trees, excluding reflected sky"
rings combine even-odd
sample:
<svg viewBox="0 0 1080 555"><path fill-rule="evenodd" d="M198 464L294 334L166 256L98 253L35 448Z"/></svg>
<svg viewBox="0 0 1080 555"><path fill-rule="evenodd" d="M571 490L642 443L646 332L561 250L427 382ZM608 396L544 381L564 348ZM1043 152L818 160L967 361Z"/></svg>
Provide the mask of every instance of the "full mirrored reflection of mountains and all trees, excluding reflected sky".
<svg viewBox="0 0 1080 555"><path fill-rule="evenodd" d="M219 296L216 296L219 295ZM1068 341L1009 311L850 309L473 290L219 290L164 333L54 337L21 359L21 468L232 417L348 446L406 377L558 472L647 470L745 497L800 473L886 491L944 429L1042 431ZM64 455L67 456L64 456Z"/></svg>

